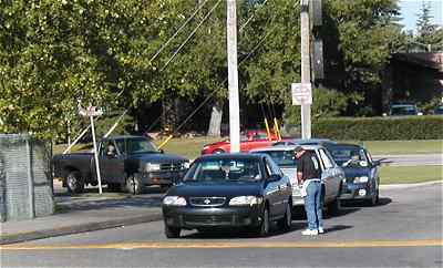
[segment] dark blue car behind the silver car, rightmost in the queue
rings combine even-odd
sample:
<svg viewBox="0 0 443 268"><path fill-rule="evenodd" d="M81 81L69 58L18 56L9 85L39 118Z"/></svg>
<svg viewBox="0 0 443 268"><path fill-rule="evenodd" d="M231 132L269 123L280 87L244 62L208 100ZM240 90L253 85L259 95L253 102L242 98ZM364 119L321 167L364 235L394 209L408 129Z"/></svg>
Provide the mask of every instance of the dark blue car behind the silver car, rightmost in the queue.
<svg viewBox="0 0 443 268"><path fill-rule="evenodd" d="M374 206L379 202L380 162L373 161L360 145L333 144L328 145L328 150L346 174L340 199L362 199Z"/></svg>

